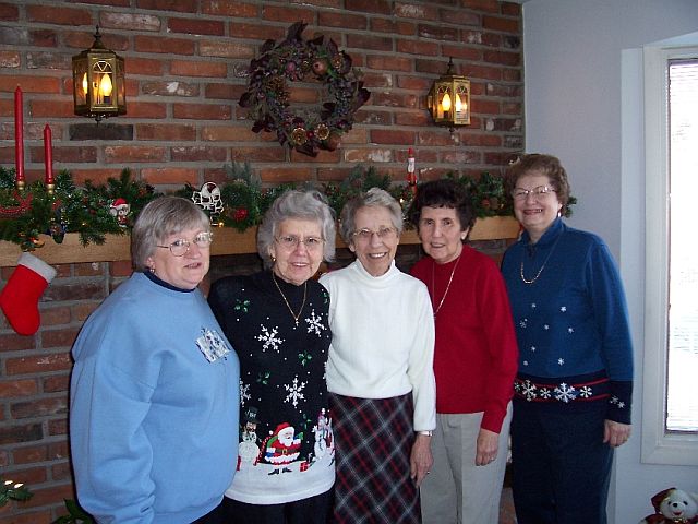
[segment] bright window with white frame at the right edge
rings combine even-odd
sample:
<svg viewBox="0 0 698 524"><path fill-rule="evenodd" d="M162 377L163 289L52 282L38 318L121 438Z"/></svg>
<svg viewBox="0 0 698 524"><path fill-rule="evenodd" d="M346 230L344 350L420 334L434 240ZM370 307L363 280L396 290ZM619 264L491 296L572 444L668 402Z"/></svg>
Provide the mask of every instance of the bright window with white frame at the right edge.
<svg viewBox="0 0 698 524"><path fill-rule="evenodd" d="M648 48L642 461L698 464L698 48Z"/></svg>

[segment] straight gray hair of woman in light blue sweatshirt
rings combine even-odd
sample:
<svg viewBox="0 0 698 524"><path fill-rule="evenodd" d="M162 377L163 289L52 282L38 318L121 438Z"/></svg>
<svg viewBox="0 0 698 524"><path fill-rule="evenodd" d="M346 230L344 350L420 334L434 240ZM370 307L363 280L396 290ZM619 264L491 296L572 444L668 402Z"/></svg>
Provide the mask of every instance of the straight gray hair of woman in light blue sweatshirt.
<svg viewBox="0 0 698 524"><path fill-rule="evenodd" d="M143 207L131 231L131 264L146 271L155 248L184 229L210 231L210 221L201 207L181 196L158 196Z"/></svg>

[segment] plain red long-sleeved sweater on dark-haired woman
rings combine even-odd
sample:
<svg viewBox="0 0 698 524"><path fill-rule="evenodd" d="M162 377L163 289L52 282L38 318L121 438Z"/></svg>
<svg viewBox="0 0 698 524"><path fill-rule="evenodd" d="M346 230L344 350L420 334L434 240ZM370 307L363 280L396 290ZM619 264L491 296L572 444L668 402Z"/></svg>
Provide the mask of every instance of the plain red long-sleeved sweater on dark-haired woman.
<svg viewBox="0 0 698 524"><path fill-rule="evenodd" d="M456 261L425 257L411 274L426 284L434 310ZM500 432L514 394L516 334L504 279L488 255L464 246L448 294L436 314L437 413L484 412L481 427Z"/></svg>

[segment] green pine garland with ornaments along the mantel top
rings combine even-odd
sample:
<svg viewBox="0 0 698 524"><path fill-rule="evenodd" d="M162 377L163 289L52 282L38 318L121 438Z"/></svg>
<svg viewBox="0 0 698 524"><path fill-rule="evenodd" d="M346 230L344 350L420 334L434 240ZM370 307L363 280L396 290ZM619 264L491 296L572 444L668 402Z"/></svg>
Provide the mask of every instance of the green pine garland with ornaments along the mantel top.
<svg viewBox="0 0 698 524"><path fill-rule="evenodd" d="M216 226L233 227L239 231L258 225L272 202L287 189L297 187L287 183L263 188L249 164L233 163L225 166L225 170L226 182L219 188L222 212L209 213L209 217ZM504 192L501 177L489 172L483 172L478 180L454 174L446 176L462 183L470 192L478 217L512 215L512 201ZM405 182L394 182L373 166L356 166L341 182L325 183L317 189L327 198L335 216L339 217L348 200L373 187L389 192L407 213L413 188ZM197 189L188 183L174 194L192 199L195 191ZM16 243L24 251L33 251L44 245L40 235L49 235L61 243L65 234L77 233L83 246L101 245L107 234L128 234L143 206L160 194L152 186L134 180L128 169L118 179L109 178L100 186L87 181L84 188L77 188L70 172L63 170L56 177L53 194L48 193L43 181L17 191L14 169L0 167L0 240ZM129 214L121 221L110 212L119 200L130 205ZM570 205L575 203L576 199L570 196L566 216L571 214Z"/></svg>

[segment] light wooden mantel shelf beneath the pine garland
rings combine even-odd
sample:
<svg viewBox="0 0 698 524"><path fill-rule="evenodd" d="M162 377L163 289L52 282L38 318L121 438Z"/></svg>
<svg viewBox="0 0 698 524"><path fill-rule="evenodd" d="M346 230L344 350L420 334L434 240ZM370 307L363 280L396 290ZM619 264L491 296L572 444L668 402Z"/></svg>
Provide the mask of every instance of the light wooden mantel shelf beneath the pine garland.
<svg viewBox="0 0 698 524"><path fill-rule="evenodd" d="M215 241L210 248L212 255L256 253L256 228L239 233L226 227L215 229ZM479 218L470 234L470 240L497 240L516 238L519 223L508 216L493 216ZM44 247L34 254L47 264L72 264L85 262L112 262L129 260L130 241L128 235L107 235L107 241L101 246L89 245L83 247L76 233L65 235L63 243L56 243L49 236L41 236ZM419 243L417 231L408 229L402 233L400 243ZM337 247L344 247L337 238ZM15 243L0 241L0 266L14 266L21 250Z"/></svg>

